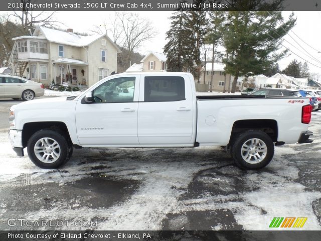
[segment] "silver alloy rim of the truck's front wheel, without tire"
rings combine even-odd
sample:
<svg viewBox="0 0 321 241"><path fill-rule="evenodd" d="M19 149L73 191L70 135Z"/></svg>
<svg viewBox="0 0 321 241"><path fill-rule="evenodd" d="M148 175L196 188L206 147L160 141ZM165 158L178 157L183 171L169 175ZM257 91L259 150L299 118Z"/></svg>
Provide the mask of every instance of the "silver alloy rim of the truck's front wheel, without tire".
<svg viewBox="0 0 321 241"><path fill-rule="evenodd" d="M34 152L39 161L44 163L53 163L60 157L60 146L52 138L41 138L34 147Z"/></svg>

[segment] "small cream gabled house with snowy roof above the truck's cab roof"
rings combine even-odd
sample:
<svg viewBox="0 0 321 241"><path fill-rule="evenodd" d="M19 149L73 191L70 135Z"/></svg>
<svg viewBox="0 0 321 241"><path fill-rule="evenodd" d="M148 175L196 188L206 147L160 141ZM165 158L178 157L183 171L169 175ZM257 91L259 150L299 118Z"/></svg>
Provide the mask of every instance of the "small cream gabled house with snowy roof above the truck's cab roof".
<svg viewBox="0 0 321 241"><path fill-rule="evenodd" d="M166 56L162 53L150 51L140 61L133 64L125 72L162 72L167 70Z"/></svg>

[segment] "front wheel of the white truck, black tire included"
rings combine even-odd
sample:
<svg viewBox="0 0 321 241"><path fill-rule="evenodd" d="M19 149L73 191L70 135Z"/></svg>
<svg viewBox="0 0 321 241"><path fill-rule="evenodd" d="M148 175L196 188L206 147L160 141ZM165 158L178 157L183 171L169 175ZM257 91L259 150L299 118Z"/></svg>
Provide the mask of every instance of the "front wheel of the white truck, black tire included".
<svg viewBox="0 0 321 241"><path fill-rule="evenodd" d="M38 149L38 153L35 149ZM66 138L48 129L40 130L31 136L27 144L27 151L31 161L36 166L45 169L57 168L65 164L69 160L70 153ZM46 159L42 161L41 158Z"/></svg>

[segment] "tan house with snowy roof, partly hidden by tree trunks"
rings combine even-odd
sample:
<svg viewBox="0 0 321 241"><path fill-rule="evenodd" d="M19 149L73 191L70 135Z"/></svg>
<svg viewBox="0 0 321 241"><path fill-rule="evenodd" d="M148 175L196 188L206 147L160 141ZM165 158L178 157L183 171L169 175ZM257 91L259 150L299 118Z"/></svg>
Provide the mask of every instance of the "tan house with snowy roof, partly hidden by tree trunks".
<svg viewBox="0 0 321 241"><path fill-rule="evenodd" d="M233 78L230 74L224 75L225 71L225 64L215 62L213 65L213 90L214 91L223 91L224 90L224 82L226 80L226 83L230 81L233 81ZM206 63L205 69L203 68L203 71L201 73L201 83L204 81L204 74L205 74L205 82L206 84L210 85L211 83L211 75L212 75L212 63Z"/></svg>

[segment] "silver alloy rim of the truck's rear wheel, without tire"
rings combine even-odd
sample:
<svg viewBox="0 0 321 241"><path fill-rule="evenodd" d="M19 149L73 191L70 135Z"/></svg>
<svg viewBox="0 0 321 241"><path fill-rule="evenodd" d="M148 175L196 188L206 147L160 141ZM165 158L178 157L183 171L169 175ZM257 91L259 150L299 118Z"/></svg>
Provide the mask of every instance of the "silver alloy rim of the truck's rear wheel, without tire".
<svg viewBox="0 0 321 241"><path fill-rule="evenodd" d="M261 139L252 138L243 143L241 155L244 161L250 164L257 164L264 160L267 154L267 147Z"/></svg>

